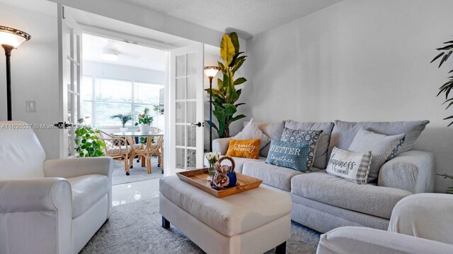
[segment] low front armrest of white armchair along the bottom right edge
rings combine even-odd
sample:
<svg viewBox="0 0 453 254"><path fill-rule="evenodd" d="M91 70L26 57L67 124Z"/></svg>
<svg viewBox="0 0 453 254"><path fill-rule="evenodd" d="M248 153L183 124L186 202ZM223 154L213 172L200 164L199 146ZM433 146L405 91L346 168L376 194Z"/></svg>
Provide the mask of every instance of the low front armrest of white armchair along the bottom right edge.
<svg viewBox="0 0 453 254"><path fill-rule="evenodd" d="M333 253L452 253L453 246L379 229L343 226L322 234L317 254Z"/></svg>

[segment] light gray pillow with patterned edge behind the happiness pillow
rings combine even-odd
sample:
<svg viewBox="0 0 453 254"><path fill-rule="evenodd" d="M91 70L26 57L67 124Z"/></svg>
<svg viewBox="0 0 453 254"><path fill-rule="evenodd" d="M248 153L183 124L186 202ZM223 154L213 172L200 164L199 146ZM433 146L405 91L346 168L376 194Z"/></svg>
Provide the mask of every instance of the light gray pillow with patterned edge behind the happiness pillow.
<svg viewBox="0 0 453 254"><path fill-rule="evenodd" d="M379 169L398 152L404 142L404 134L383 135L361 128L352 140L349 149L351 152L371 152L373 160L369 170L368 182L377 179Z"/></svg>

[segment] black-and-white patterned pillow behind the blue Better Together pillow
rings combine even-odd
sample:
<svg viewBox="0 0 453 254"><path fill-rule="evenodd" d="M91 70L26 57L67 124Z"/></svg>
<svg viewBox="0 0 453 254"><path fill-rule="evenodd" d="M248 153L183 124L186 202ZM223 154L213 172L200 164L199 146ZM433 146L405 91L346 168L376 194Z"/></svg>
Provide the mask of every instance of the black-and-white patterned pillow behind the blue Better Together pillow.
<svg viewBox="0 0 453 254"><path fill-rule="evenodd" d="M318 144L319 137L323 131L314 130L292 130L285 128L282 133L283 141L294 142L298 144L306 144L309 146L309 154L306 157L306 170L311 170L313 166L314 154L316 152L316 144Z"/></svg>

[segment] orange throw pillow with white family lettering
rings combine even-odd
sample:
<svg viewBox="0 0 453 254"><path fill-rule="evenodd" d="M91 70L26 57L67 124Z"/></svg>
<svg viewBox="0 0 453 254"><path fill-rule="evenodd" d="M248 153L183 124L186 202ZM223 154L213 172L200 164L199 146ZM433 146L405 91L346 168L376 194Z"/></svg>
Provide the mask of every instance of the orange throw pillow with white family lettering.
<svg viewBox="0 0 453 254"><path fill-rule="evenodd" d="M241 157L248 159L260 159L258 152L260 152L260 140L229 140L228 151L226 155L231 157Z"/></svg>

